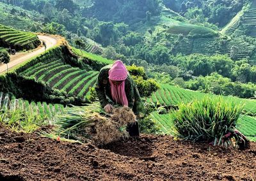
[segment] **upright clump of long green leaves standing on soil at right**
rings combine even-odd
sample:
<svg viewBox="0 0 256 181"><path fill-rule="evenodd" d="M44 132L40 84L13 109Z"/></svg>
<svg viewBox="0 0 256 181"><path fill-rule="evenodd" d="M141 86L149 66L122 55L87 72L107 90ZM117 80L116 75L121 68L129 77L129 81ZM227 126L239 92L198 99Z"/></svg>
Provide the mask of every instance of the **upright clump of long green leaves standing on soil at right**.
<svg viewBox="0 0 256 181"><path fill-rule="evenodd" d="M209 141L212 145L249 147L249 141L236 129L242 111L242 105L221 96L181 103L179 110L172 112L175 134L184 140Z"/></svg>

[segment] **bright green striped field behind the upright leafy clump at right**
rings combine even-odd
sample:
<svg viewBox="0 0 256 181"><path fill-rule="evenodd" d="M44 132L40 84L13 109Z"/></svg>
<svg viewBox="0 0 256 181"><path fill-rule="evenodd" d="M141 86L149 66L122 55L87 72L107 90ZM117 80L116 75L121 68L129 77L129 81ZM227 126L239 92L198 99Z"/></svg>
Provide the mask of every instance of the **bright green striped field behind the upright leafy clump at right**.
<svg viewBox="0 0 256 181"><path fill-rule="evenodd" d="M147 99L147 102L159 103L160 105L179 105L179 103L189 103L195 99L202 99L205 96L216 96L210 94L204 94L202 92L190 91L186 89L180 89L172 85L161 85L159 91L154 92L151 98ZM244 113L256 113L256 101L251 99L240 99L232 96L223 96L227 101L236 101L237 104L244 104ZM171 114L159 114L157 112L151 113L152 119L161 127L161 133L172 134L173 122L171 120ZM248 136L250 140L255 140L256 137L256 118L248 115L241 115L237 123L237 129L244 135Z"/></svg>

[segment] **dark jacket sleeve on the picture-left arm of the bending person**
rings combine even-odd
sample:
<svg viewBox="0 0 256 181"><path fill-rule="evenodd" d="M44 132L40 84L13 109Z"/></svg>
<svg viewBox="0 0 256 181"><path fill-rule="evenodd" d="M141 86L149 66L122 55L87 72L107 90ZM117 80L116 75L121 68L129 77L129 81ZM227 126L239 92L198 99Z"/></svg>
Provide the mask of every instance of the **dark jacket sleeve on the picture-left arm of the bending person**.
<svg viewBox="0 0 256 181"><path fill-rule="evenodd" d="M96 86L95 86L95 91L97 92L97 96L99 98L100 101L100 106L102 106L102 108L104 108L104 106L108 105L108 99L106 98L106 88L103 84L103 80L104 80L104 71L100 70L97 82L96 82Z"/></svg>

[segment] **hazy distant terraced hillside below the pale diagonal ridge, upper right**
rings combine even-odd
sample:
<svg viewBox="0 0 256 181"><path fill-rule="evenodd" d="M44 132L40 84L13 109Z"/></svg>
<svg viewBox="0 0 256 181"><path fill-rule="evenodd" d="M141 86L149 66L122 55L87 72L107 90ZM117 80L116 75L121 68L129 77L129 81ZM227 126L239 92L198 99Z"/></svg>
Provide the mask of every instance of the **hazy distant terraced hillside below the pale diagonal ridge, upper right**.
<svg viewBox="0 0 256 181"><path fill-rule="evenodd" d="M221 33L223 32L221 31ZM156 43L168 47L170 54L173 55L198 53L205 55L227 54L236 59L252 57L255 52L255 46L252 43L244 40L232 40L221 33L208 27L189 24L186 20L180 22L168 18L168 16L162 16L159 18L159 24L155 27L153 34L146 34L146 40L154 41L152 37L157 39Z"/></svg>

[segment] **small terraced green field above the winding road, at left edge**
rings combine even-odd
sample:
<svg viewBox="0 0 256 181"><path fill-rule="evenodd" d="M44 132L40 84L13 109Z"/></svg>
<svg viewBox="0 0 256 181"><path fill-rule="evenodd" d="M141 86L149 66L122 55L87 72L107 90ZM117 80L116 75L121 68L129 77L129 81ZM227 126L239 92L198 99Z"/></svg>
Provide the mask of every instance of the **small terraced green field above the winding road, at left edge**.
<svg viewBox="0 0 256 181"><path fill-rule="evenodd" d="M16 50L30 50L41 44L36 34L17 31L0 24L0 46Z"/></svg>

